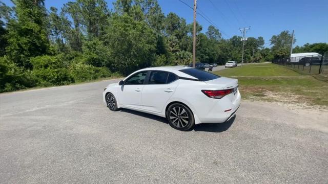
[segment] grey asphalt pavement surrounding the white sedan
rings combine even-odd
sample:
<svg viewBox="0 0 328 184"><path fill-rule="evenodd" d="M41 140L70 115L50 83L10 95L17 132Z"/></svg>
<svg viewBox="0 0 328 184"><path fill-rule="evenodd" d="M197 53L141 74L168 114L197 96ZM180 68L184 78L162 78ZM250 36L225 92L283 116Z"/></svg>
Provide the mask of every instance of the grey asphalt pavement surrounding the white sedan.
<svg viewBox="0 0 328 184"><path fill-rule="evenodd" d="M0 94L0 183L328 181L327 124L243 101L231 121L182 132L110 111L101 93L117 81Z"/></svg>

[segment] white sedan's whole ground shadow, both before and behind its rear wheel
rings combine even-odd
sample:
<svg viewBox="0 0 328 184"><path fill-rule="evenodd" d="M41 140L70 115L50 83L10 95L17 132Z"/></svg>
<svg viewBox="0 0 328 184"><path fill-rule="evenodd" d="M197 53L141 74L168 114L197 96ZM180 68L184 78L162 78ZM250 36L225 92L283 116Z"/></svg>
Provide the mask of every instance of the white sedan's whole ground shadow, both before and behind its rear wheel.
<svg viewBox="0 0 328 184"><path fill-rule="evenodd" d="M124 108L122 108L120 111L132 113L132 114L135 114L137 116L141 116L141 117L156 120L156 121L159 121L159 122L162 122L162 123L165 123L165 124L169 124L169 122L166 118L155 116L153 114L149 114L149 113L145 113L145 112L139 112L139 111L130 110L130 109L124 109ZM228 130L231 127L231 125L233 124L235 119L236 119L236 115L233 116L229 121L224 122L224 123L203 123L203 124L198 124L198 125L195 125L194 129L191 129L189 131L194 130L194 131L207 131L207 132L223 132L223 131Z"/></svg>

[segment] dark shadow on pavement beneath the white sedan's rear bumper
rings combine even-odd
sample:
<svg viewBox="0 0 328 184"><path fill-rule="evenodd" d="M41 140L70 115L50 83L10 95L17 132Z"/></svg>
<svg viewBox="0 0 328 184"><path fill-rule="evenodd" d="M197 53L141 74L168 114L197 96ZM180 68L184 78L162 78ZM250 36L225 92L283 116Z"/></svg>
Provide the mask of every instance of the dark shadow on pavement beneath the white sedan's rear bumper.
<svg viewBox="0 0 328 184"><path fill-rule="evenodd" d="M197 124L194 127L195 131L207 131L207 132L223 132L228 130L236 119L236 115L229 121L224 123L203 123Z"/></svg>

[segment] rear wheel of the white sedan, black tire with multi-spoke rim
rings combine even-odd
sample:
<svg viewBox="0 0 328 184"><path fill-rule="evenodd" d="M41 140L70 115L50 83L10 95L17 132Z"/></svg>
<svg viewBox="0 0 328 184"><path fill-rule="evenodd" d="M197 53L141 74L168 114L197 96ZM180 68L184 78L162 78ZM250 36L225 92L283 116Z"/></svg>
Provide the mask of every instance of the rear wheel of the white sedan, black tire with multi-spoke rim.
<svg viewBox="0 0 328 184"><path fill-rule="evenodd" d="M181 103L171 104L166 112L166 117L170 126L177 130L187 131L195 125L194 114L189 107Z"/></svg>

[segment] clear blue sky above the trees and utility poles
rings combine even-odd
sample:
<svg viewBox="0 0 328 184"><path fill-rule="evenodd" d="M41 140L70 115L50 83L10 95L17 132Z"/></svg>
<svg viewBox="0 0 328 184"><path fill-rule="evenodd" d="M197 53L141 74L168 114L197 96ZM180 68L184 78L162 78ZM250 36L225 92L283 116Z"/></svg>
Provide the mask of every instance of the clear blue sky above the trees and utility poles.
<svg viewBox="0 0 328 184"><path fill-rule="evenodd" d="M193 0L181 0L193 6ZM3 1L12 6L9 0ZM68 0L46 0L46 7L60 9ZM214 6L213 6L213 4ZM107 0L113 9L113 0ZM193 21L193 10L179 0L158 0L162 11L178 14ZM295 45L328 42L328 0L198 0L198 12L203 13L228 36L241 35L239 28L251 26L248 37L262 36L270 47L272 35L283 30L295 30ZM197 15L197 21L206 32L209 22ZM228 38L223 35L224 38Z"/></svg>

